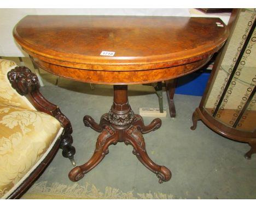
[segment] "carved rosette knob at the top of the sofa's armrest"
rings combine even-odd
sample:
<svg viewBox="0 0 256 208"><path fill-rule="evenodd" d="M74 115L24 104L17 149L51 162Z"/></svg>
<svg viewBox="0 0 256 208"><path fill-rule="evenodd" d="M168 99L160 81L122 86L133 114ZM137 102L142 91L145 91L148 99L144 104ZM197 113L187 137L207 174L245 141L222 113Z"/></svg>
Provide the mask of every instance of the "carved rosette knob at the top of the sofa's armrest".
<svg viewBox="0 0 256 208"><path fill-rule="evenodd" d="M39 88L38 78L25 66L16 66L7 74L8 79L20 95L26 95Z"/></svg>

